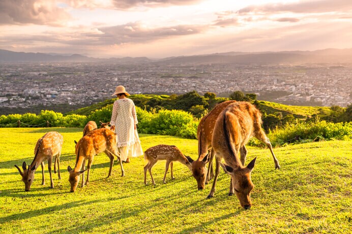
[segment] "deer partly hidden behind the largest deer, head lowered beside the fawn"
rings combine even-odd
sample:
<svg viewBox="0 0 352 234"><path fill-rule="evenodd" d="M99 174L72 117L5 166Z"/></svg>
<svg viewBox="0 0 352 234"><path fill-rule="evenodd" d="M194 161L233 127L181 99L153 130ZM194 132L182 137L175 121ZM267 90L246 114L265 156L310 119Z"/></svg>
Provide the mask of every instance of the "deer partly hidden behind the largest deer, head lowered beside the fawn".
<svg viewBox="0 0 352 234"><path fill-rule="evenodd" d="M203 189L205 184L208 184L209 180L214 177L213 158L215 152L211 149L210 153L208 153L208 149L212 145L213 130L216 119L228 105L234 102L236 101L226 101L216 105L213 110L199 121L197 129L198 159L193 160L187 156L188 161L192 163L192 175L197 181L198 190ZM207 172L206 165L208 162L209 168Z"/></svg>

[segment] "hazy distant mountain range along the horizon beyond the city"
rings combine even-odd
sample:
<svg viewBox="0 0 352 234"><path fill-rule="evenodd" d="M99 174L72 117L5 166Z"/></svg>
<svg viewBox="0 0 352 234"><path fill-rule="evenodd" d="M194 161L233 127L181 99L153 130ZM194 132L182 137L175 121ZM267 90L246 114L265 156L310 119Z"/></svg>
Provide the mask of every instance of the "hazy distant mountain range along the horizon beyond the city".
<svg viewBox="0 0 352 234"><path fill-rule="evenodd" d="M226 52L150 59L147 57L92 58L80 54L24 53L0 50L0 62L113 62L113 63L166 63L166 64L280 64L280 63L352 63L352 49L325 49L315 51L280 52Z"/></svg>

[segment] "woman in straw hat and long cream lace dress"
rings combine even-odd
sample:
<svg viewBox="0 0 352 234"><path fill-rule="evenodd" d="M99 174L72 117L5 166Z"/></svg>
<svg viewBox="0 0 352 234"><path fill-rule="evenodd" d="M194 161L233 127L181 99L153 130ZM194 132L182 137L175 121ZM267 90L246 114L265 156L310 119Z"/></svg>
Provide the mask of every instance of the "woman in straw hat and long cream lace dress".
<svg viewBox="0 0 352 234"><path fill-rule="evenodd" d="M111 96L114 95L119 99L113 103L110 124L115 126L121 160L130 162L131 157L143 154L136 128L138 123L136 109L133 101L127 98L130 94L126 92L124 86L116 87Z"/></svg>

